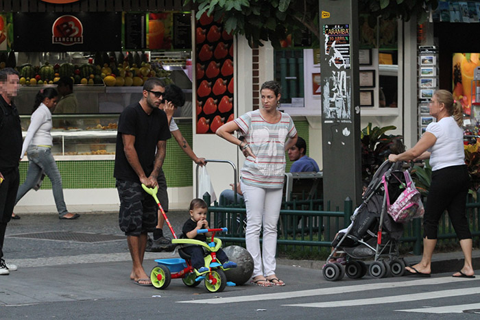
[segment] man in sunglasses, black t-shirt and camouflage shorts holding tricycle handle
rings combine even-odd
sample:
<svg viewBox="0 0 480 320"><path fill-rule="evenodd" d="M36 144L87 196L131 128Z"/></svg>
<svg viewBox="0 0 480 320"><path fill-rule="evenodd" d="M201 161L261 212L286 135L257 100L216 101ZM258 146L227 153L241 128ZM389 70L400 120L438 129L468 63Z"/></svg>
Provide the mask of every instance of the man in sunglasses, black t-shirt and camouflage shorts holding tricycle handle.
<svg viewBox="0 0 480 320"><path fill-rule="evenodd" d="M152 286L142 263L147 232L153 232L157 224L157 206L141 184L158 186L158 173L165 160L170 131L165 112L158 109L164 93L165 84L160 79L147 79L143 97L123 110L117 130L113 175L120 197L119 225L132 256L130 279L140 286Z"/></svg>

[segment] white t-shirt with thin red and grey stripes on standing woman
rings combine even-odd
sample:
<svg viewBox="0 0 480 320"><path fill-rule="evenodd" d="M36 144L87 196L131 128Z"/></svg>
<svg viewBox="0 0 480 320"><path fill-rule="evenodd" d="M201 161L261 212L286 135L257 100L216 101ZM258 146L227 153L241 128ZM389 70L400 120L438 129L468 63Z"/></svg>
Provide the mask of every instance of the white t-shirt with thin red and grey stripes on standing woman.
<svg viewBox="0 0 480 320"><path fill-rule="evenodd" d="M285 175L285 140L297 134L288 114L282 113L278 123L263 119L260 110L243 114L234 120L250 145L252 153L241 169L244 184L261 188L282 188Z"/></svg>

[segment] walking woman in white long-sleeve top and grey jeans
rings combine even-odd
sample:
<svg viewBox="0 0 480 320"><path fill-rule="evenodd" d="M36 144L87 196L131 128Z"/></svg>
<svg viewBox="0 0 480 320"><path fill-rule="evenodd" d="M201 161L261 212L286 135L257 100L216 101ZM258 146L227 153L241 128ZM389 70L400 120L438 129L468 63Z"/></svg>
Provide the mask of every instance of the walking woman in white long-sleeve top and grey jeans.
<svg viewBox="0 0 480 320"><path fill-rule="evenodd" d="M72 214L67 211L62 189L62 177L58 171L57 164L51 155L53 139L51 137L51 112L58 102L58 92L54 88L45 88L38 91L32 118L27 130L27 136L23 141L23 156L27 151L29 160L27 177L16 193L15 204L34 188L43 172L51 181L53 197L59 214L59 219L77 219L80 214Z"/></svg>

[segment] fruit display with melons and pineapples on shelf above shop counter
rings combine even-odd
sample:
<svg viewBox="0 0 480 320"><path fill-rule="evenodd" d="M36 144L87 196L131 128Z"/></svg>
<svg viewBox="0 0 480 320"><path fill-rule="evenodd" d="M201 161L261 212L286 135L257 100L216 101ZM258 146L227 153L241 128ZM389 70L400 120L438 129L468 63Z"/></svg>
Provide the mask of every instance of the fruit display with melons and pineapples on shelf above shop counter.
<svg viewBox="0 0 480 320"><path fill-rule="evenodd" d="M13 59L13 60L12 60ZM0 55L0 69L6 64L14 65L13 52L7 57L5 53ZM23 64L16 67L20 74L20 84L53 84L60 77L71 77L73 84L102 85L102 86L143 86L143 82L149 77L162 77L166 84L171 83L170 71L165 71L161 63L150 64L147 62L145 53L129 51L125 54L120 52L95 53L94 63L51 65L45 62L42 66Z"/></svg>

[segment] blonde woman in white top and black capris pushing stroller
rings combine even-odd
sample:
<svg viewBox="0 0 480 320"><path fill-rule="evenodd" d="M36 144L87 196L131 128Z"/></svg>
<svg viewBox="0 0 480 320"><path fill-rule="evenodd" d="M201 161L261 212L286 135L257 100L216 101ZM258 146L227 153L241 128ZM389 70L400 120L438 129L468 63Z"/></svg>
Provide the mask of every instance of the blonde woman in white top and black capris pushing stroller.
<svg viewBox="0 0 480 320"><path fill-rule="evenodd" d="M465 256L464 267L454 273L453 277L475 278L472 267L472 234L466 217L470 178L465 164L461 105L453 100L452 94L447 90L437 90L429 108L437 122L428 125L427 131L411 149L388 157L392 162L430 158L432 167L432 181L423 217L422 260L406 270L409 275L430 277L431 259L437 244L438 221L447 210Z"/></svg>

